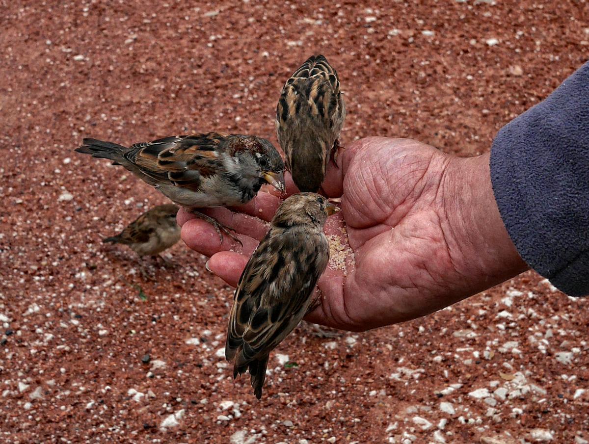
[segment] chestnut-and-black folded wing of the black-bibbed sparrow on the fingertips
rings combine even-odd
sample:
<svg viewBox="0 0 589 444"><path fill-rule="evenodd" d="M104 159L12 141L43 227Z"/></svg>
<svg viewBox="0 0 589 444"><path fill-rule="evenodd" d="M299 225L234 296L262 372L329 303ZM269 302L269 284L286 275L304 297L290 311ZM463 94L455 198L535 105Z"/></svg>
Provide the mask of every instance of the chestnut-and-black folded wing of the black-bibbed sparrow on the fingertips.
<svg viewBox="0 0 589 444"><path fill-rule="evenodd" d="M134 144L124 157L160 183L199 191L204 178L222 169L220 154L230 144L229 134L178 135Z"/></svg>

